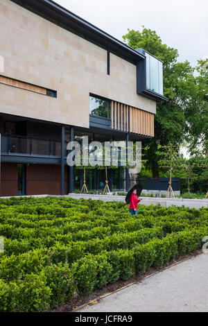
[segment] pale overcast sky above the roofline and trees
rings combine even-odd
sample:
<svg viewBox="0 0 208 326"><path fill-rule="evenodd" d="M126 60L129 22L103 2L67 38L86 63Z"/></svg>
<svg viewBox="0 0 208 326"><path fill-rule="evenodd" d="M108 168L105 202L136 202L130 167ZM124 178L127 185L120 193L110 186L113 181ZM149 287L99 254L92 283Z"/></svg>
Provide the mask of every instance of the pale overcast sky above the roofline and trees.
<svg viewBox="0 0 208 326"><path fill-rule="evenodd" d="M179 51L192 66L208 55L207 0L55 0L122 41L128 28L142 25L156 31L162 42Z"/></svg>

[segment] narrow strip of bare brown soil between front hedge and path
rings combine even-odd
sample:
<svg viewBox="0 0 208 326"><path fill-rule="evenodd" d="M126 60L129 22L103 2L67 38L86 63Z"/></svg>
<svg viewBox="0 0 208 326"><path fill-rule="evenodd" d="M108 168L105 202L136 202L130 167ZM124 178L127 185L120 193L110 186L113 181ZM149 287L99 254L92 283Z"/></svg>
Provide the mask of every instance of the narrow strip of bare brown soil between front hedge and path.
<svg viewBox="0 0 208 326"><path fill-rule="evenodd" d="M124 286L128 286L132 283L139 283L142 280L144 280L146 277L153 275L155 273L158 273L160 271L164 271L166 268L174 266L175 264L178 264L180 261L187 260L191 257L200 255L202 253L202 250L195 250L194 252L190 252L187 255L175 257L175 259L168 261L167 263L163 264L162 266L157 266L156 268L150 267L146 271L146 273L141 273L139 275L134 275L130 277L129 280L122 281L118 280L116 282L113 282L111 284L108 284L107 286L103 287L102 289L98 289L96 291L93 291L89 295L85 297L76 296L73 299L70 300L70 302L66 304L61 304L60 307L55 308L51 310L50 312L73 312L78 310L79 307L86 305L86 304L94 304L98 300L101 299L104 295L110 295L111 293L115 291L119 291Z"/></svg>

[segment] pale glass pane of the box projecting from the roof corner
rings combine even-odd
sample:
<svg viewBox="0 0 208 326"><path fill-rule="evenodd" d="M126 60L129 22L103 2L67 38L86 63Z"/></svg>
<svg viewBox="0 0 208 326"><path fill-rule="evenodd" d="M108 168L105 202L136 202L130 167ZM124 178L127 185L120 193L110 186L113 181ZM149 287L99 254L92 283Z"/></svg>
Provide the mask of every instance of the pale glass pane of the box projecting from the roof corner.
<svg viewBox="0 0 208 326"><path fill-rule="evenodd" d="M162 62L146 54L146 89L163 95Z"/></svg>

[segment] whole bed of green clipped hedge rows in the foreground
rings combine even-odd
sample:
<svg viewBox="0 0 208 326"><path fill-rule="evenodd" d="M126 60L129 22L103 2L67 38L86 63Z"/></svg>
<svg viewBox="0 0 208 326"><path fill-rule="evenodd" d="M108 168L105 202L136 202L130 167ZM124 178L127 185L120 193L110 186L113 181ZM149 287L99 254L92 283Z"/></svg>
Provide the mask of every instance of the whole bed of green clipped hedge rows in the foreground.
<svg viewBox="0 0 208 326"><path fill-rule="evenodd" d="M208 209L0 199L0 311L47 311L202 247Z"/></svg>

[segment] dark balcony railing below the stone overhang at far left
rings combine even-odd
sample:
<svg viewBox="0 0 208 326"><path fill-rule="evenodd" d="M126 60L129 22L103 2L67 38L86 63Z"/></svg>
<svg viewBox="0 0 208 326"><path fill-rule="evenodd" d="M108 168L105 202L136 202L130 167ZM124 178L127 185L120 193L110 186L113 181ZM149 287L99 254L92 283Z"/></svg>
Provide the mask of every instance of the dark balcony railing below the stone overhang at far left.
<svg viewBox="0 0 208 326"><path fill-rule="evenodd" d="M66 156L67 141L65 141L64 147ZM1 135L1 153L61 157L61 141Z"/></svg>

